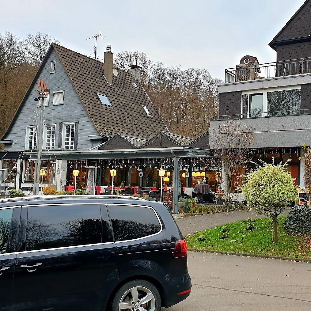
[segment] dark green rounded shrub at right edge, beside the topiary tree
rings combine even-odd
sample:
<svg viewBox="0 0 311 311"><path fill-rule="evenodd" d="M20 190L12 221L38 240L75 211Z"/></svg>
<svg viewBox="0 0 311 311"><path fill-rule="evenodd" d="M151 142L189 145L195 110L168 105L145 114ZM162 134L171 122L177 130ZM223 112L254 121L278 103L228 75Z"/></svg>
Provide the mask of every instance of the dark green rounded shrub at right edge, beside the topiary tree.
<svg viewBox="0 0 311 311"><path fill-rule="evenodd" d="M295 205L285 218L284 229L289 233L311 234L311 208L307 205Z"/></svg>

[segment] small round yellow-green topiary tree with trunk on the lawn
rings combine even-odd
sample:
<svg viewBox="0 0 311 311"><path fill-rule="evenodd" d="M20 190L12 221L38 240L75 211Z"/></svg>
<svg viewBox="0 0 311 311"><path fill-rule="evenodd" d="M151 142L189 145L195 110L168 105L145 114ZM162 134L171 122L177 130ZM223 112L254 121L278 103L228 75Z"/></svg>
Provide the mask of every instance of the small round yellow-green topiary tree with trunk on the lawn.
<svg viewBox="0 0 311 311"><path fill-rule="evenodd" d="M245 177L242 193L251 208L272 218L272 243L278 240L277 216L297 197L297 188L286 164L263 164Z"/></svg>

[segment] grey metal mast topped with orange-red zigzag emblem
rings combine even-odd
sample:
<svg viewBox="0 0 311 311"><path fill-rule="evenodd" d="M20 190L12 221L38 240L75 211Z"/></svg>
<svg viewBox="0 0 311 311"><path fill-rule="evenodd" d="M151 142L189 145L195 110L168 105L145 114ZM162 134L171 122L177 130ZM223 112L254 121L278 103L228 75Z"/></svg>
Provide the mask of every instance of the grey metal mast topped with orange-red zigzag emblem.
<svg viewBox="0 0 311 311"><path fill-rule="evenodd" d="M42 142L43 142L43 116L44 116L44 98L49 95L46 82L39 79L37 91L39 92L39 97L35 98L36 101L40 101L40 121L39 121L39 131L37 132L37 143L38 157L37 163L35 165L35 176L34 176L34 195L39 195L39 184L40 184L40 169L41 169L41 154L42 154Z"/></svg>

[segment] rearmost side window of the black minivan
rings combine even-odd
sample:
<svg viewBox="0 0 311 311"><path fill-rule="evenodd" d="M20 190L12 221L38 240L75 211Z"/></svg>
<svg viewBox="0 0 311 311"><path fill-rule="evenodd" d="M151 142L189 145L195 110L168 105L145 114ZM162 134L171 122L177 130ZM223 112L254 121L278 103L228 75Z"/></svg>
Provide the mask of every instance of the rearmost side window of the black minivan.
<svg viewBox="0 0 311 311"><path fill-rule="evenodd" d="M148 207L108 205L115 241L146 237L160 232L159 220Z"/></svg>

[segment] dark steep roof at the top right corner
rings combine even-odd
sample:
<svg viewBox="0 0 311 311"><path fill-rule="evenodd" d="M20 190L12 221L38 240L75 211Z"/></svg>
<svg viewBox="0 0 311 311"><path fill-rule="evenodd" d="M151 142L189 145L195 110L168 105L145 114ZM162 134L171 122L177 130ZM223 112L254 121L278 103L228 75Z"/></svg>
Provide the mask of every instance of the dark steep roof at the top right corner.
<svg viewBox="0 0 311 311"><path fill-rule="evenodd" d="M298 11L269 43L272 49L280 45L279 41L302 39L311 41L311 0L306 0ZM309 37L310 36L310 37ZM309 38L308 38L309 37Z"/></svg>

